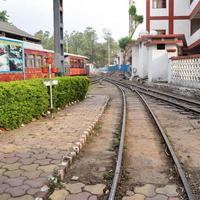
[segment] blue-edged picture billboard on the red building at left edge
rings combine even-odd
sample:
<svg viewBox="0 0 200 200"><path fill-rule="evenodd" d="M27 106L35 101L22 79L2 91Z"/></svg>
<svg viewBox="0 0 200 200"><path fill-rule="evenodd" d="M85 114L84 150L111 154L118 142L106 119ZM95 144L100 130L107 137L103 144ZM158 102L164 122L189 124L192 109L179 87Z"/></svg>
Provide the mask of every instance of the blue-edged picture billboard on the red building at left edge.
<svg viewBox="0 0 200 200"><path fill-rule="evenodd" d="M23 66L23 43L0 38L0 72L22 72Z"/></svg>

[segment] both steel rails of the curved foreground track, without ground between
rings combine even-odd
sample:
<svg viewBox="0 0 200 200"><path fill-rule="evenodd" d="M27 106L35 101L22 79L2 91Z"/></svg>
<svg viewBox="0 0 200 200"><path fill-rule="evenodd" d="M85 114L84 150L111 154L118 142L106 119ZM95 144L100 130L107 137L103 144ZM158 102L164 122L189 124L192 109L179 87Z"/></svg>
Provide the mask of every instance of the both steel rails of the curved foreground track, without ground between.
<svg viewBox="0 0 200 200"><path fill-rule="evenodd" d="M169 139L167 137L167 135L165 134L165 131L162 129L157 117L155 116L155 114L153 113L152 109L150 108L150 106L148 105L148 102L146 101L146 99L141 95L141 93L143 92L140 92L138 91L137 89L132 89L130 88L130 85L125 85L125 84L121 84L117 81L113 81L113 80L110 80L110 79L105 79L105 81L108 81L112 84L114 84L115 86L117 86L121 92L122 92L122 95L123 95L123 105L124 105L124 108L123 108L123 114L122 114L122 128L121 128L121 139L120 139L120 145L119 145L119 152L118 152L118 159L117 159L117 164L116 164L116 169L115 169L115 175L114 175L114 178L113 178L113 184L112 184L112 187L111 187L111 191L110 191L110 195L109 195L109 198L108 200L114 200L115 199L115 195L116 195L116 191L117 191L117 186L118 186L118 183L119 183L119 180L120 180L120 173L121 173L121 164L122 164L122 158L123 158L123 148L124 148L124 138L125 138L125 132L126 132L126 96L125 96L125 93L124 93L124 90L120 87L123 86L124 88L127 88L127 89L130 89L132 92L135 92L141 102L144 104L145 108L147 109L147 111L150 113L153 121L154 121L154 124L156 125L157 129L159 130L159 133L161 135L161 137L163 138L164 142L165 142L165 145L169 151L169 155L171 156L171 159L173 160L175 166L176 166L176 169L177 169L177 173L178 173L178 176L180 177L180 180L183 184L183 187L184 187L184 190L185 190L185 193L188 197L189 200L195 200L195 197L192 193L192 190L191 190L191 187L189 185L189 182L185 176L185 172L172 148L172 145L170 144L169 142Z"/></svg>

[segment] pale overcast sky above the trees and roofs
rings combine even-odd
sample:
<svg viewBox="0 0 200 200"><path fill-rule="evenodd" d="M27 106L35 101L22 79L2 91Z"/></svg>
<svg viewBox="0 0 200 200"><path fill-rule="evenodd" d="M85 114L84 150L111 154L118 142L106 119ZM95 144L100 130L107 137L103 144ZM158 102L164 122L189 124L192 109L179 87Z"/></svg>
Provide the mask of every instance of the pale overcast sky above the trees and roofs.
<svg viewBox="0 0 200 200"><path fill-rule="evenodd" d="M63 2L64 30L83 31L90 26L97 31L99 40L104 28L109 29L116 40L128 35L129 0ZM145 0L135 2L138 14L145 15ZM0 0L0 10L7 10L10 21L30 34L39 30L53 32L53 0Z"/></svg>

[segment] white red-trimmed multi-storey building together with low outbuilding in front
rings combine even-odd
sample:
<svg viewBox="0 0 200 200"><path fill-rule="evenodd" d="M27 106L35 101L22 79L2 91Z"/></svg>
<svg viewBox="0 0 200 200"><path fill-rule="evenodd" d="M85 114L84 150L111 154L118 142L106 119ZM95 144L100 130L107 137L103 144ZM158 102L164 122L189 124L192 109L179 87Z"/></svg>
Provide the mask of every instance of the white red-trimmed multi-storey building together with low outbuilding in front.
<svg viewBox="0 0 200 200"><path fill-rule="evenodd" d="M146 0L146 30L128 55L132 77L169 81L172 58L199 53L200 0Z"/></svg>

